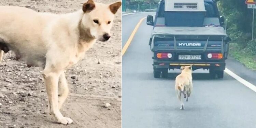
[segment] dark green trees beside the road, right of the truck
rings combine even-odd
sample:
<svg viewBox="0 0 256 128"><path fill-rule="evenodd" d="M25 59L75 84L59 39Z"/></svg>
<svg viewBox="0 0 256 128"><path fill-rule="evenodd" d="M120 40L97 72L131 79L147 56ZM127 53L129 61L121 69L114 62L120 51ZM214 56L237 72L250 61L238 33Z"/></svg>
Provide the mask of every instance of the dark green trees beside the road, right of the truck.
<svg viewBox="0 0 256 128"><path fill-rule="evenodd" d="M221 15L228 19L227 33L232 42L237 43L242 51L256 54L256 41L251 41L253 10L247 9L244 2L245 0L219 0L218 8Z"/></svg>

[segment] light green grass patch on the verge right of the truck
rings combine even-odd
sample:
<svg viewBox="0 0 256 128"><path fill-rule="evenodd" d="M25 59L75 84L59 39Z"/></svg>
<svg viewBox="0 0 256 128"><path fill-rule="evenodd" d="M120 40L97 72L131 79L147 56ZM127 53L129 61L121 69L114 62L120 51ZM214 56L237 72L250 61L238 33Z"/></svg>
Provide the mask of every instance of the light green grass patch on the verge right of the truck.
<svg viewBox="0 0 256 128"><path fill-rule="evenodd" d="M237 43L229 44L229 55L243 63L250 70L256 71L256 55L242 49Z"/></svg>

